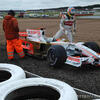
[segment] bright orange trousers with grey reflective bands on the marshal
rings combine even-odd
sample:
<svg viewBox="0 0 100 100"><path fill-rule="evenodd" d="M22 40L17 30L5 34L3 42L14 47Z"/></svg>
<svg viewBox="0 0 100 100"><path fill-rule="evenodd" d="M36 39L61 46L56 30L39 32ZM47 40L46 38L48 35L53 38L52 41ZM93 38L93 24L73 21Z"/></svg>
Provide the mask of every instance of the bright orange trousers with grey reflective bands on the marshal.
<svg viewBox="0 0 100 100"><path fill-rule="evenodd" d="M22 42L19 39L7 40L8 59L14 58L14 49L19 54L20 58L23 58L25 56L21 44Z"/></svg>

